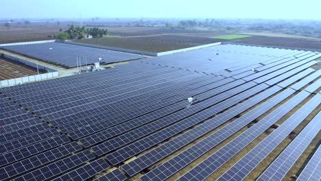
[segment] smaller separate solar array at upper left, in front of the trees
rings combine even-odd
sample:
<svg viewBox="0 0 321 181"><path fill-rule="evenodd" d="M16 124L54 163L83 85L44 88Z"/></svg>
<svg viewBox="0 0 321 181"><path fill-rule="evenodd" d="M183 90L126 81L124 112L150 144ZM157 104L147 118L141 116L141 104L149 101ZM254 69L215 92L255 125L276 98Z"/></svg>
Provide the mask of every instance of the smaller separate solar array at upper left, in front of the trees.
<svg viewBox="0 0 321 181"><path fill-rule="evenodd" d="M30 45L13 45L1 48L67 67L77 67L77 60L80 60L80 64L84 65L86 62L87 64L93 64L95 62L112 63L143 58L143 56L132 53L96 49L92 47L56 42ZM98 58L103 58L103 60L98 61Z"/></svg>

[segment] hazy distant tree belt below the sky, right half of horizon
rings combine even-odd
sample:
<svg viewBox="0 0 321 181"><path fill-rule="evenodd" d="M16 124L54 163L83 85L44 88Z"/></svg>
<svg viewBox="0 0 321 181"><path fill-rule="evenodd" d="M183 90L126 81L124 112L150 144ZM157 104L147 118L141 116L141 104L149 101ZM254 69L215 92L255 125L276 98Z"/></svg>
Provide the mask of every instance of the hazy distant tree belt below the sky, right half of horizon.
<svg viewBox="0 0 321 181"><path fill-rule="evenodd" d="M222 32L273 32L321 38L321 21L259 19L198 19L167 22L165 27L181 29L205 27Z"/></svg>

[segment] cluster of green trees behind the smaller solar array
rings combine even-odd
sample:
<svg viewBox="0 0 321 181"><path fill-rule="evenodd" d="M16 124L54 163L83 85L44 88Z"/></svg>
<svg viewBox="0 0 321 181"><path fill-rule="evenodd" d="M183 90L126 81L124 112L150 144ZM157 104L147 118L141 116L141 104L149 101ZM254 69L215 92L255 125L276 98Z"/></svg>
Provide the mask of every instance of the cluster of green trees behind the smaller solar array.
<svg viewBox="0 0 321 181"><path fill-rule="evenodd" d="M109 34L108 29L99 29L98 27L86 28L86 27L74 27L71 25L69 29L58 34L59 40L67 39L83 39L86 35L91 35L93 38L103 37Z"/></svg>

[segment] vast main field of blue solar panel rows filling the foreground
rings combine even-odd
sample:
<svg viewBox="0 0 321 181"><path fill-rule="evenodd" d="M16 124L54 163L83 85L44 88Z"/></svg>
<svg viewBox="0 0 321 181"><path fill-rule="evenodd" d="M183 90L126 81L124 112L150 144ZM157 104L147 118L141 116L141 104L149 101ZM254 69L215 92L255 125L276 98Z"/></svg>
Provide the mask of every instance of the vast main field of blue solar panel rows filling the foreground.
<svg viewBox="0 0 321 181"><path fill-rule="evenodd" d="M213 52L222 59L206 60ZM305 104L259 143L265 154L320 110L321 72L311 69L319 53L222 45L164 57L1 88L0 180L204 180L298 105ZM311 143L318 117L284 153ZM292 165L300 155L289 156ZM244 159L221 178L244 178L257 165ZM276 159L270 167L276 163L286 165ZM307 167L318 167L316 159Z"/></svg>

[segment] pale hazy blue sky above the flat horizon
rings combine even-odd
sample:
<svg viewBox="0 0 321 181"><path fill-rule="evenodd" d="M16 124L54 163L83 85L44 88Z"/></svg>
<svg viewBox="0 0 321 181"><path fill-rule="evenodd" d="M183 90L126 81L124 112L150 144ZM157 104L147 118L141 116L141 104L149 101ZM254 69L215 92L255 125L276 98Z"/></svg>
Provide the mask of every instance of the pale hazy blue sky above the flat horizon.
<svg viewBox="0 0 321 181"><path fill-rule="evenodd" d="M321 0L0 0L0 19L211 17L321 19Z"/></svg>

